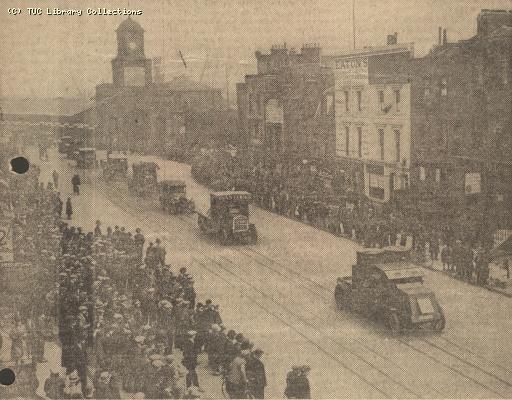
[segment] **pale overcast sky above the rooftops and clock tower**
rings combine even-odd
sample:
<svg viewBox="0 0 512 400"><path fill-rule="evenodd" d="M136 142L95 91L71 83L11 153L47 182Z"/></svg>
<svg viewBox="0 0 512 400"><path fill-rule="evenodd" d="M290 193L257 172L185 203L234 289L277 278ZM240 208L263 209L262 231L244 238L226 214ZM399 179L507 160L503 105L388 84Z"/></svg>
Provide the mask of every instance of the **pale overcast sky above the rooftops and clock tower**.
<svg viewBox="0 0 512 400"><path fill-rule="evenodd" d="M476 32L482 8L512 9L512 0L355 0L357 47L385 44L398 32L414 42L416 56L437 41L438 26L449 41ZM28 16L27 6L141 9L146 56L162 54L166 77L188 74L225 90L255 71L254 51L286 42L300 48L316 42L324 54L352 44L352 0L1 0L0 94L92 96L111 82L115 28L120 16ZM8 15L22 7L22 15ZM177 60L181 50L187 68ZM209 59L205 64L204 59ZM227 70L227 71L226 71ZM227 73L226 73L227 72ZM233 93L230 93L232 95Z"/></svg>

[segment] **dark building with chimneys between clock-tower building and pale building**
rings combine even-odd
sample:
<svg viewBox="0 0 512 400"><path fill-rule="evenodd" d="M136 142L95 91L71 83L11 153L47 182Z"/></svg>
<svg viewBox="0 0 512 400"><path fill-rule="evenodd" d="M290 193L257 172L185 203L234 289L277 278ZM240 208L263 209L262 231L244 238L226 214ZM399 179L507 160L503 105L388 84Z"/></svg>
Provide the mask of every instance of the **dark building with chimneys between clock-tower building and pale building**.
<svg viewBox="0 0 512 400"><path fill-rule="evenodd" d="M239 129L251 154L266 160L332 160L334 77L320 47L256 52L257 74L237 84Z"/></svg>

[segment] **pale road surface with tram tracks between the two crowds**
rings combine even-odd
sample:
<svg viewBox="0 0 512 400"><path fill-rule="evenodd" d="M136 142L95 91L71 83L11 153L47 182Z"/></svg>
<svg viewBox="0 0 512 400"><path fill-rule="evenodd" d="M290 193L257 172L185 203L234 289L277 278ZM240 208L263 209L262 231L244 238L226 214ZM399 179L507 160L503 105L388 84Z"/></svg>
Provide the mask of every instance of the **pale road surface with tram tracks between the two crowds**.
<svg viewBox="0 0 512 400"><path fill-rule="evenodd" d="M130 157L141 159L159 163L159 180L184 179L196 205L207 204L209 191L191 178L189 166ZM53 154L42 167L43 177L59 168L67 196L73 165ZM425 284L443 306L445 330L393 337L381 324L335 308L336 278L350 275L356 243L251 207L258 244L224 247L199 232L194 216L165 215L156 199L129 196L125 183L106 185L96 171L84 175L81 195L72 197L73 223L92 230L100 219L104 228L141 227L147 241L160 237L171 264L195 277L198 299L220 304L226 327L263 348L267 397L283 396L293 364L312 367L315 398L512 397L511 299L434 265ZM47 358L57 355L48 352ZM222 397L220 379L204 364L198 372L204 397Z"/></svg>

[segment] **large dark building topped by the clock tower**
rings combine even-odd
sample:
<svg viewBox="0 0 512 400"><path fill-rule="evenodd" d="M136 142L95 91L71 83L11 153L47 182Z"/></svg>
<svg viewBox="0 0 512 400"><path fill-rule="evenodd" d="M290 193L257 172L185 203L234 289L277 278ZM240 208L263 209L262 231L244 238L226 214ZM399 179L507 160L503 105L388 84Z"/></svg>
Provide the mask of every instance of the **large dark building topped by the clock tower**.
<svg viewBox="0 0 512 400"><path fill-rule="evenodd" d="M220 89L186 76L165 82L158 74L155 82L152 60L144 53L142 27L128 18L116 35L112 83L96 87L98 145L179 156L224 135L224 129L229 131Z"/></svg>

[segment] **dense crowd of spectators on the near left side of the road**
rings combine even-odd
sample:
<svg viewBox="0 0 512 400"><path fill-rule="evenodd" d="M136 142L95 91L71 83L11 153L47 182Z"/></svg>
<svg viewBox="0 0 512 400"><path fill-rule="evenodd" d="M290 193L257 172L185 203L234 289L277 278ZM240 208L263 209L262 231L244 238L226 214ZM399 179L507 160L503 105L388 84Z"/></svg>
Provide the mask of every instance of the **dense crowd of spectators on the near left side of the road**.
<svg viewBox="0 0 512 400"><path fill-rule="evenodd" d="M69 225L62 213L71 219L71 199L64 209L59 174L45 186L39 172L32 165L10 186L14 259L38 282L29 296L20 293L8 333L17 387L30 388L23 396L35 394L35 366L47 362L53 342L62 368L48 371L47 398L198 398L202 360L226 396L264 398L263 350L227 329L211 299L197 301L192 276L166 263L161 241L145 246L139 228L104 230L101 221L92 232ZM310 396L308 371L292 368L287 397Z"/></svg>

